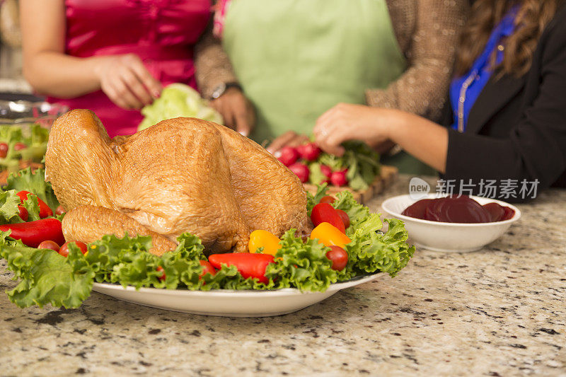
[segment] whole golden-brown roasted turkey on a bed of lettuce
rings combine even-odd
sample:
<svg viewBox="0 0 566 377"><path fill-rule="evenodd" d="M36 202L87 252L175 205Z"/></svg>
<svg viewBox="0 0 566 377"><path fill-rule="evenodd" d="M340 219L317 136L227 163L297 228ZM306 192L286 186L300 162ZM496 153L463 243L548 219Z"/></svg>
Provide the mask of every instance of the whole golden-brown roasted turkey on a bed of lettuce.
<svg viewBox="0 0 566 377"><path fill-rule="evenodd" d="M110 139L93 112L67 112L50 132L45 179L67 210L67 241L127 232L151 236L161 255L190 232L207 253L244 252L250 231L308 226L296 175L246 137L195 118Z"/></svg>

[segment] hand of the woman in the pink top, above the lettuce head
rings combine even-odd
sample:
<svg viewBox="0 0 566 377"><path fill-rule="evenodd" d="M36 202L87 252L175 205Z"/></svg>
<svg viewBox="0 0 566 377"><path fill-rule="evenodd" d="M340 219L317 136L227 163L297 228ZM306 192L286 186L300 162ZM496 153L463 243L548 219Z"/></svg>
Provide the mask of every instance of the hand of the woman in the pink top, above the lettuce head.
<svg viewBox="0 0 566 377"><path fill-rule="evenodd" d="M102 57L95 67L100 89L120 108L140 109L158 98L163 87L136 54Z"/></svg>

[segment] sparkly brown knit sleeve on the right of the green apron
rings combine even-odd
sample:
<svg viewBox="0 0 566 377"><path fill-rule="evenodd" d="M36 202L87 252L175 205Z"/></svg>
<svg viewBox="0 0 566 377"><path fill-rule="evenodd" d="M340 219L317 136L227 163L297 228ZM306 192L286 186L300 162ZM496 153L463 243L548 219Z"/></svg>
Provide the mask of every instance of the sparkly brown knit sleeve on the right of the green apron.
<svg viewBox="0 0 566 377"><path fill-rule="evenodd" d="M467 0L414 0L416 10L412 36L406 43L408 69L386 89L366 91L368 105L397 108L435 120L441 114L448 90L451 67L458 34L463 27ZM401 2L400 2L401 3ZM396 35L410 30L410 25L398 25L412 17L397 17L403 12L391 12ZM400 41L401 42L401 41ZM400 43L404 47L404 43Z"/></svg>

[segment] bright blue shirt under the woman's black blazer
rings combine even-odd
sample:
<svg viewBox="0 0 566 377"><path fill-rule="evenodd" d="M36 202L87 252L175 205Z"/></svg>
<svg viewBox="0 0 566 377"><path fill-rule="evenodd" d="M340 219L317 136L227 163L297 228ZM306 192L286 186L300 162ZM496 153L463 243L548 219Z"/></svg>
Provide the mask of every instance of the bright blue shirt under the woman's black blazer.
<svg viewBox="0 0 566 377"><path fill-rule="evenodd" d="M515 30L515 17L518 7L512 8L504 16L502 21L493 29L490 39L487 40L485 45L485 50L483 53L475 59L472 67L468 74L458 77L452 81L450 84L450 103L452 105L452 111L454 112L454 123L452 124L453 129L458 129L458 105L460 103L461 91L464 83L468 81L468 88L466 88L466 100L463 102L463 126L466 129L468 124L468 115L470 115L470 110L472 110L475 100L478 99L480 93L483 91L487 81L490 81L490 77L493 74L492 67L490 64L490 57L493 50L497 49L499 42L504 37L509 37ZM501 63L503 60L503 51L497 50L496 62Z"/></svg>

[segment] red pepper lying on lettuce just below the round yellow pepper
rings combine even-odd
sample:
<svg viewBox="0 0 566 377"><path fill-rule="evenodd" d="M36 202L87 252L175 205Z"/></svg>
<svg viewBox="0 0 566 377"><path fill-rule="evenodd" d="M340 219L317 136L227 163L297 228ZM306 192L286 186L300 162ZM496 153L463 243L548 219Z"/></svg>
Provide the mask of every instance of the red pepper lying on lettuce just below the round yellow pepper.
<svg viewBox="0 0 566 377"><path fill-rule="evenodd" d="M208 261L215 268L220 269L222 265L236 266L244 279L248 277L259 279L260 283L267 284L265 269L267 265L274 262L273 255L259 253L226 253L212 254Z"/></svg>

